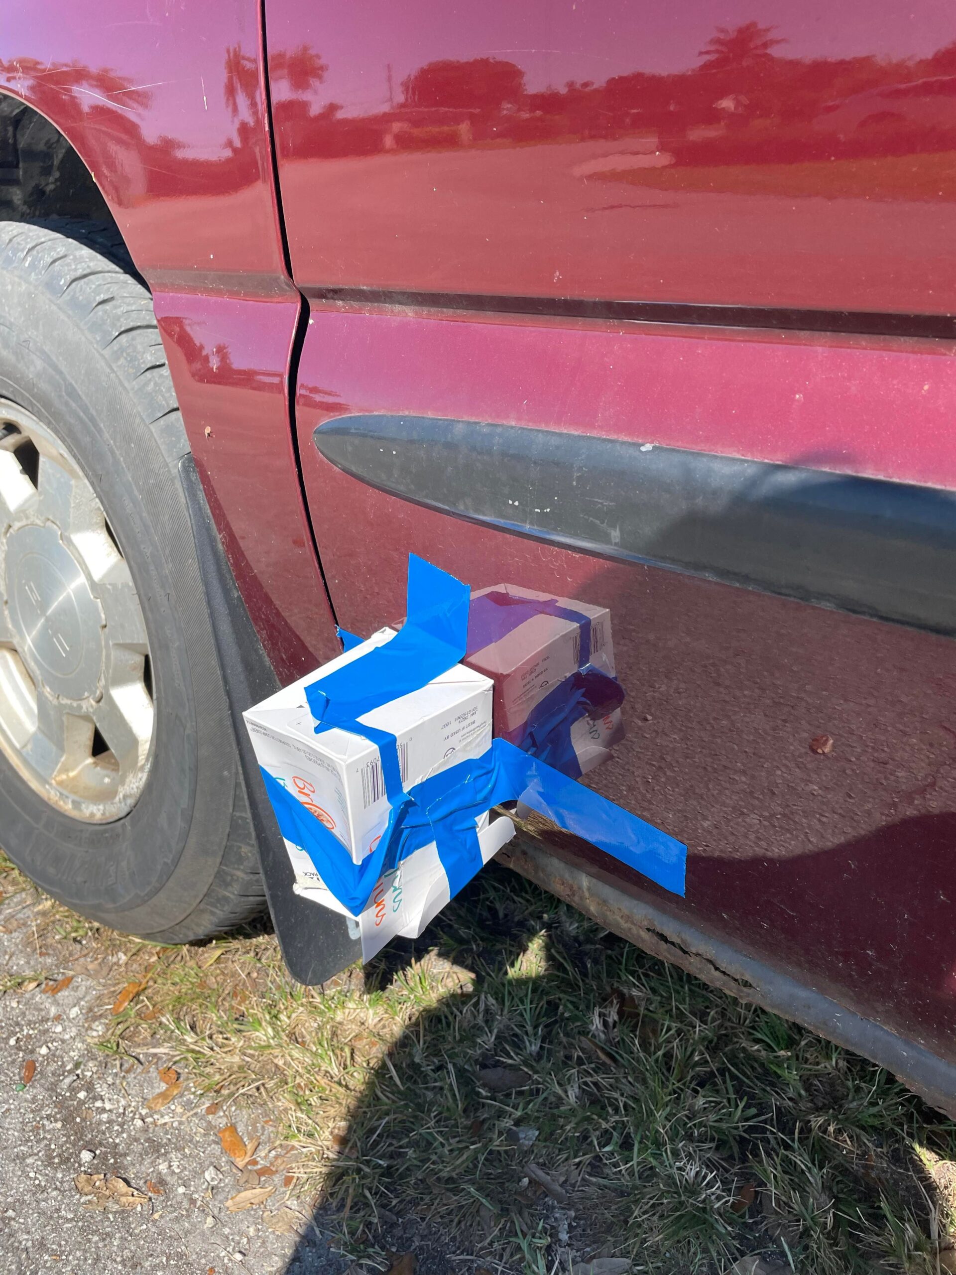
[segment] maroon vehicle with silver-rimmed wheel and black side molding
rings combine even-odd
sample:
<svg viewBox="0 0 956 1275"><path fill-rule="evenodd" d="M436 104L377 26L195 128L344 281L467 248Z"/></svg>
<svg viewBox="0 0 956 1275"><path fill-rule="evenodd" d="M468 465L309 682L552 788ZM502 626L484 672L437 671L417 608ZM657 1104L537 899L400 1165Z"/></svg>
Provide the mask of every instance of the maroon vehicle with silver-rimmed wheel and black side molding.
<svg viewBox="0 0 956 1275"><path fill-rule="evenodd" d="M241 714L414 552L607 608L686 898L502 857L956 1112L953 85L939 0L8 5L4 849L353 960Z"/></svg>

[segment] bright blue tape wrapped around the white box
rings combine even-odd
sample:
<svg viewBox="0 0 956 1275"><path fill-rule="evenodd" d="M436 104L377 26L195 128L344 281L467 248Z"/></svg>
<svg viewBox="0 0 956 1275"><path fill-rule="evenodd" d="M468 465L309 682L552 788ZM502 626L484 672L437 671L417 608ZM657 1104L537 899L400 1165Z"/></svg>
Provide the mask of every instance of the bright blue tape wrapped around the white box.
<svg viewBox="0 0 956 1275"><path fill-rule="evenodd" d="M384 646L306 688L316 732L338 727L379 747L390 815L376 849L362 863L353 863L338 838L263 769L282 835L308 854L331 894L358 915L382 872L431 841L455 895L482 866L475 819L502 802L521 801L665 890L683 895L684 845L507 740L495 740L483 756L403 790L395 737L358 718L459 663L467 644L469 599L467 585L412 555L404 627Z"/></svg>

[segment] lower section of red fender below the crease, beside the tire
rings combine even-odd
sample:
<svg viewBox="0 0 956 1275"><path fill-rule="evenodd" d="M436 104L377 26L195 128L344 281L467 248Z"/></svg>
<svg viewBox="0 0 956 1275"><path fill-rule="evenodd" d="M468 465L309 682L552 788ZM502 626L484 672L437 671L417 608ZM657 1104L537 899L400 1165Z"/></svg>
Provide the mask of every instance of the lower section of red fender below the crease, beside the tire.
<svg viewBox="0 0 956 1275"><path fill-rule="evenodd" d="M288 426L292 298L154 298L196 467L229 564L282 681L339 653Z"/></svg>

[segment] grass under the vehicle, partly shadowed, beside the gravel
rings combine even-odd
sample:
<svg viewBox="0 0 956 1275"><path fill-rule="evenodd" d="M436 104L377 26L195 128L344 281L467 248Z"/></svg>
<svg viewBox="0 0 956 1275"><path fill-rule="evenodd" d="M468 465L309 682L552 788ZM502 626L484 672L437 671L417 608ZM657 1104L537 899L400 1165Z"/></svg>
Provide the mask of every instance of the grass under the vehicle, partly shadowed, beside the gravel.
<svg viewBox="0 0 956 1275"><path fill-rule="evenodd" d="M65 924L46 915L41 943ZM105 1007L149 974L105 1047L159 1043L217 1100L268 1104L356 1257L386 1265L408 1223L464 1272L552 1275L572 1253L654 1275L744 1255L815 1275L953 1269L950 1121L497 866L422 940L324 989L293 984L263 928L157 949L78 926L56 950L111 954ZM526 1084L488 1088L492 1067Z"/></svg>

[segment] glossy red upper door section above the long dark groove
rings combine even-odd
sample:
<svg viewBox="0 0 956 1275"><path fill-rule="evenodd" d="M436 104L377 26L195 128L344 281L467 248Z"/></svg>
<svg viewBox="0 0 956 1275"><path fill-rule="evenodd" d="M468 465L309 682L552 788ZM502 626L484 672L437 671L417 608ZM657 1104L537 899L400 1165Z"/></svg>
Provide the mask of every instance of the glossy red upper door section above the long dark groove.
<svg viewBox="0 0 956 1275"><path fill-rule="evenodd" d="M948 0L269 0L305 287L956 309Z"/></svg>

